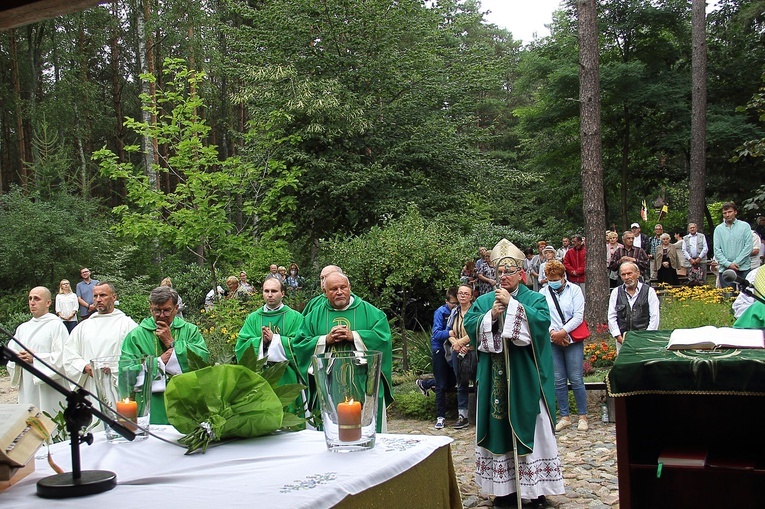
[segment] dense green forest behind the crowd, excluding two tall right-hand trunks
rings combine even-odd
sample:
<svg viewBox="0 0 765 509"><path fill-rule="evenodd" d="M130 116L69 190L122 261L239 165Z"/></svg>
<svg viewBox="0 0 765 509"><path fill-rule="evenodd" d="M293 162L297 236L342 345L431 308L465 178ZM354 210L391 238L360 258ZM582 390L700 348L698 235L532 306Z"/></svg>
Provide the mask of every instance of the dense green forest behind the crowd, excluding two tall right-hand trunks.
<svg viewBox="0 0 765 509"><path fill-rule="evenodd" d="M1 33L0 323L82 266L136 319L170 276L201 321L213 281L295 261L296 307L336 263L394 325L427 326L479 245L584 231L562 5L525 46L471 0L120 0ZM605 224L660 198L684 231L691 3L597 9ZM707 17L707 233L722 201L765 206L764 23L763 0Z"/></svg>

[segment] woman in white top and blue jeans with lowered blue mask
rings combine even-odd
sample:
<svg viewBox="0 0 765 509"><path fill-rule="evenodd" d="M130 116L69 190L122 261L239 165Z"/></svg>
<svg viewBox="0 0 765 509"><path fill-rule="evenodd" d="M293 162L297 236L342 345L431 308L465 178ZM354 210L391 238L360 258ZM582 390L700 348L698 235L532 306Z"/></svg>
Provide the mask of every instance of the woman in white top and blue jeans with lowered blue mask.
<svg viewBox="0 0 765 509"><path fill-rule="evenodd" d="M579 412L579 431L587 431L587 392L584 389L582 364L584 341L573 342L569 333L584 321L584 295L577 285L566 281L566 268L557 260L545 266L547 286L541 294L550 308L550 340L552 341L553 368L555 372L555 399L558 401L560 420L555 431L571 426L568 406L568 382L574 392Z"/></svg>

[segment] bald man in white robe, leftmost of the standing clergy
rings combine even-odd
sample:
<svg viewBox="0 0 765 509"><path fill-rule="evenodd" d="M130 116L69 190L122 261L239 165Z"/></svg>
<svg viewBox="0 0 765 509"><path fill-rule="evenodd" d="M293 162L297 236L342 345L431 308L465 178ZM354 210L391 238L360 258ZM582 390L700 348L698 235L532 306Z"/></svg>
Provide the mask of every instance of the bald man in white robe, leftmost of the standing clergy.
<svg viewBox="0 0 765 509"><path fill-rule="evenodd" d="M22 349L15 341L10 341L8 348L17 352L23 362L31 364L50 378L62 383L61 376L32 357L32 353L54 370L61 371L64 344L69 333L61 318L48 312L51 304L50 290L42 286L32 288L29 291L28 303L32 319L19 325L15 337L31 353ZM61 410L59 403L66 405L66 397L63 394L46 385L15 362L8 363L8 374L11 375L11 386L19 388L19 403L35 405L53 416Z"/></svg>

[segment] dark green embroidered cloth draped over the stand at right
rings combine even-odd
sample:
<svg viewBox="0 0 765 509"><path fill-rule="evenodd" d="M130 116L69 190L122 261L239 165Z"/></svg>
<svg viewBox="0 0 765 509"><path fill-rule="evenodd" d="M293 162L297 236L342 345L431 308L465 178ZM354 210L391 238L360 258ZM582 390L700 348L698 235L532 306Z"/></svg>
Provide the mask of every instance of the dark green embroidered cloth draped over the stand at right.
<svg viewBox="0 0 765 509"><path fill-rule="evenodd" d="M765 350L667 350L670 330L630 331L606 377L612 397L638 394L765 396Z"/></svg>

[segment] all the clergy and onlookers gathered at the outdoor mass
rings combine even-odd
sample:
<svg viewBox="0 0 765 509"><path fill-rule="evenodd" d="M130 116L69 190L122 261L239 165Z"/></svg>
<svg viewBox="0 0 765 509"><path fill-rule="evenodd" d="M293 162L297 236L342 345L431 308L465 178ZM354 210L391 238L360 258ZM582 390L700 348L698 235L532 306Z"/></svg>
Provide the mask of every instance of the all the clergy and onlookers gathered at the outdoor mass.
<svg viewBox="0 0 765 509"><path fill-rule="evenodd" d="M658 329L654 283L678 284L682 277L687 284L704 284L710 268L717 271L719 286L750 281L761 295L765 292L765 272L758 278L764 252L761 233L736 218L735 204L726 203L722 209L723 222L714 230L711 250L693 223L686 235L675 236L675 242L661 224L654 225L652 237L642 233L638 223L621 235L615 229L606 232L602 270L612 288L608 327L617 351L626 332ZM758 219L757 227L765 230L765 220ZM475 385L475 479L483 492L494 495L496 507L517 505L521 498L533 507L546 507L548 495L565 492L555 433L573 425L569 383L578 414L576 429L589 429L582 369L589 335L584 321L586 256L586 239L581 235L561 239L557 249L539 241L525 251L502 239L491 250L481 247L478 259L464 264L460 285L446 291L444 304L435 311L434 378L417 380L417 387L425 395L435 392L435 427L443 429L446 393L451 390L457 392L457 420L452 426L469 426L470 385ZM65 375L94 392L91 359L149 355L156 357L160 371L153 386L151 422L167 423L163 398L167 381L189 370L189 352L203 359L209 355L200 330L181 317L181 300L172 282L165 280L151 291L149 316L136 323L115 308L113 284L91 279L87 268L80 275L75 292L69 281L61 281L55 315L48 312L52 304L48 289L29 292L32 318L16 331L27 348L10 345L18 352L9 372L19 387L19 401L56 413L63 397L19 369L18 362L44 368L60 380ZM226 286L227 290L211 295L236 298L255 291L244 271L230 276ZM385 313L352 293L348 276L334 265L321 271L321 293L301 313L284 298L290 288L302 286L296 264L289 271L271 265L260 289L264 305L246 318L239 331L237 359L255 355L287 362L280 383L309 387L293 405L297 413L309 415L317 405L311 389L315 384L310 383L313 355L331 350L381 351L377 430L385 431L387 408L393 401L391 331ZM737 325L765 327L765 308L744 297L742 293L734 304L740 316Z"/></svg>

